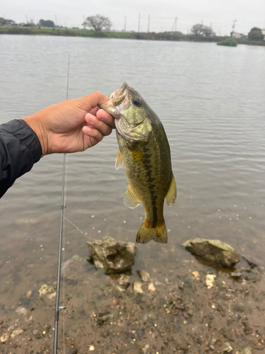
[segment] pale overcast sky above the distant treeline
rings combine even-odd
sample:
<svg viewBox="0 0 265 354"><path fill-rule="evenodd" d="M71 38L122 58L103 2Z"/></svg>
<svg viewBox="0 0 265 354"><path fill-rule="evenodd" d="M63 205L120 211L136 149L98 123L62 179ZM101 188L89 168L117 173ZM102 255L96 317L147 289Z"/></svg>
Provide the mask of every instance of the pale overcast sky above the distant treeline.
<svg viewBox="0 0 265 354"><path fill-rule="evenodd" d="M252 27L265 28L265 0L6 0L2 1L0 17L16 23L26 19L52 20L57 25L81 27L84 16L100 13L112 21L114 30L155 32L177 30L187 33L192 25L211 25L216 34L229 35L232 23L235 32L247 34Z"/></svg>

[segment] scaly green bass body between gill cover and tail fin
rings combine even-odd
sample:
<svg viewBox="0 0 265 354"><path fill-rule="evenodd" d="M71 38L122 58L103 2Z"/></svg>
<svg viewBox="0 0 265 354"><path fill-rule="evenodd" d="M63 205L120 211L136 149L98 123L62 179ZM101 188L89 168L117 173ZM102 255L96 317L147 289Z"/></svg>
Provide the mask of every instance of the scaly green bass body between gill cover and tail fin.
<svg viewBox="0 0 265 354"><path fill-rule="evenodd" d="M147 142L134 142L117 132L119 148L122 151L126 178L146 211L146 219L152 227L164 221L163 205L170 187L170 150L165 144L163 126L154 125ZM152 154L156 151L156 154Z"/></svg>

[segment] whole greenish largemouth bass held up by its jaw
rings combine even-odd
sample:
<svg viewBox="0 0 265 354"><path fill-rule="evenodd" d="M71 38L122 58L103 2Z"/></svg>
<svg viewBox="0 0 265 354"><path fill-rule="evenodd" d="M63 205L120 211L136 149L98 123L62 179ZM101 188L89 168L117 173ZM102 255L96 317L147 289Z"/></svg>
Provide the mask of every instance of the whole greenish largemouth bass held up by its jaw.
<svg viewBox="0 0 265 354"><path fill-rule="evenodd" d="M153 239L166 244L164 200L171 206L177 198L177 188L165 130L158 115L126 82L109 98L99 107L115 118L119 144L115 167L124 165L129 182L124 203L134 208L141 202L145 211L136 242L146 244Z"/></svg>

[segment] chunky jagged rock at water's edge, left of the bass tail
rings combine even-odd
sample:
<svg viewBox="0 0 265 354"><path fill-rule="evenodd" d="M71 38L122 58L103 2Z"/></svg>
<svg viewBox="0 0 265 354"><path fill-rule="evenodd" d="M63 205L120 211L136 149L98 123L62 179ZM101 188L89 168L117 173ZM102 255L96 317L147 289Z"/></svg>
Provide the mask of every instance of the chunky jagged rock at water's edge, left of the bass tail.
<svg viewBox="0 0 265 354"><path fill-rule="evenodd" d="M116 241L107 236L86 244L96 268L104 269L106 273L118 273L134 264L137 249L132 242Z"/></svg>

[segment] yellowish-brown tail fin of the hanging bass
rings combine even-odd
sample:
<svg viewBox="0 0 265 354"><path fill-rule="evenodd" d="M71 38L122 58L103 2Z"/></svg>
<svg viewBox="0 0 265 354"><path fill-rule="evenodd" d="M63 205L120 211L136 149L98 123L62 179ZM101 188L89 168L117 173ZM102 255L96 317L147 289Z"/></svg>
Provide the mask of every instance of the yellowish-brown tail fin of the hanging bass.
<svg viewBox="0 0 265 354"><path fill-rule="evenodd" d="M143 220L139 232L136 236L136 242L138 244L147 244L149 241L154 240L160 244L167 244L167 229L165 228L165 221L156 227L152 227L151 224Z"/></svg>

